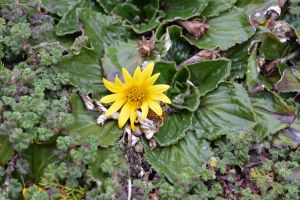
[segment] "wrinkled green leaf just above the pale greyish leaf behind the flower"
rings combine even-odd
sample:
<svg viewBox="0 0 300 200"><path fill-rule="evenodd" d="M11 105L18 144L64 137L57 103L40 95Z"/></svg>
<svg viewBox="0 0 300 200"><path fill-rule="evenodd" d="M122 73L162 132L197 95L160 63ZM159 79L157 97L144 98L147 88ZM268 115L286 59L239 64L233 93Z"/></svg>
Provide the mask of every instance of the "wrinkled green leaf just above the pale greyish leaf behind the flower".
<svg viewBox="0 0 300 200"><path fill-rule="evenodd" d="M126 29L121 22L112 16L107 16L90 9L80 9L78 17L83 23L83 33L89 37L94 50L103 54L105 47L118 44L127 36Z"/></svg>

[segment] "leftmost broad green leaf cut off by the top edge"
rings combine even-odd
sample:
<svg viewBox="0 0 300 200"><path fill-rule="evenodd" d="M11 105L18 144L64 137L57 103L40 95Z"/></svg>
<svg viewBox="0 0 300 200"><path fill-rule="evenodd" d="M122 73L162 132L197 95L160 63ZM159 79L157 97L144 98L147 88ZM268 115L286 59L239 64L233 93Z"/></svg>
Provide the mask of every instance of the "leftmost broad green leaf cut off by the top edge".
<svg viewBox="0 0 300 200"><path fill-rule="evenodd" d="M42 0L41 5L46 11L62 17L76 2L77 0Z"/></svg>

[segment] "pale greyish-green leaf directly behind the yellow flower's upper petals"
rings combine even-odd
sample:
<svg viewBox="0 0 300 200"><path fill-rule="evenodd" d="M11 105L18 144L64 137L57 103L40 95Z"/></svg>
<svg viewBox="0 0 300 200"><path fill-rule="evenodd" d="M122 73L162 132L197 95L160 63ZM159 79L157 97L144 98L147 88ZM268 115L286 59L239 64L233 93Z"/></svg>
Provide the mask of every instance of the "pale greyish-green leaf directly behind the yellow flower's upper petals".
<svg viewBox="0 0 300 200"><path fill-rule="evenodd" d="M102 61L102 68L105 77L113 81L115 76L120 74L122 67L133 74L137 66L141 66L142 57L138 52L136 41L121 42L118 45L111 45L106 51Z"/></svg>

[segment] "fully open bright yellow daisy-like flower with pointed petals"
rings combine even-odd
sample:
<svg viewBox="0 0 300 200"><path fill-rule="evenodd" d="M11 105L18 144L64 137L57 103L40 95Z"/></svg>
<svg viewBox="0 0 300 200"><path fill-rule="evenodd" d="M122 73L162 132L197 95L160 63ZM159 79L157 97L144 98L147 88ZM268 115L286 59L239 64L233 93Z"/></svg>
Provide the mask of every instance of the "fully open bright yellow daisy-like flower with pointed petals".
<svg viewBox="0 0 300 200"><path fill-rule="evenodd" d="M124 83L117 76L114 83L103 78L105 87L114 94L101 98L100 102L114 102L105 112L106 116L112 115L122 108L118 120L120 128L130 119L130 126L134 129L134 122L137 118L136 110L138 109L141 109L142 120L144 120L148 115L149 108L157 115L162 115L159 101L171 103L170 99L163 94L170 86L154 85L160 73L152 76L153 68L154 63L148 64L143 71L137 67L133 76L125 68L122 68Z"/></svg>

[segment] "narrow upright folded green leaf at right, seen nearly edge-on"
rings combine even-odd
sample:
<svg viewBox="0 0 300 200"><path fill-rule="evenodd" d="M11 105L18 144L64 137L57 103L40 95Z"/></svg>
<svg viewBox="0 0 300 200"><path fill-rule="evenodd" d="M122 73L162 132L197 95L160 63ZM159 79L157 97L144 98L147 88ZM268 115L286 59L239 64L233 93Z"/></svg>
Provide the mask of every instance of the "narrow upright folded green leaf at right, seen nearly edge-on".
<svg viewBox="0 0 300 200"><path fill-rule="evenodd" d="M261 88L258 80L259 63L257 60L257 46L258 43L255 43L255 46L252 47L252 52L248 58L246 84L249 93L256 92L259 88Z"/></svg>

